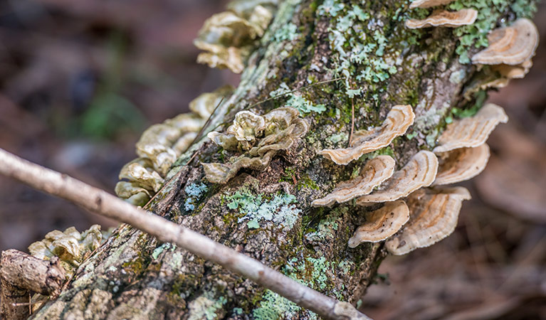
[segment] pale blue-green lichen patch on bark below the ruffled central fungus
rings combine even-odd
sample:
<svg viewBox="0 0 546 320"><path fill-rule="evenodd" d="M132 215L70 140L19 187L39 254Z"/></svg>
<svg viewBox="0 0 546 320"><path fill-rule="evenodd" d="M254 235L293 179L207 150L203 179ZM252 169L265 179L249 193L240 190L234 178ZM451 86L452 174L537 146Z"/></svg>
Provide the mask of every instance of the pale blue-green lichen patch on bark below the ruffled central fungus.
<svg viewBox="0 0 546 320"><path fill-rule="evenodd" d="M290 230L298 220L301 210L295 204L295 196L288 193L276 194L269 201L263 200L263 195L254 196L247 191L237 191L232 196L227 197L228 208L238 209L245 215L238 219L238 222L248 220L246 225L250 229L260 228L260 223L273 222L279 225L283 230Z"/></svg>

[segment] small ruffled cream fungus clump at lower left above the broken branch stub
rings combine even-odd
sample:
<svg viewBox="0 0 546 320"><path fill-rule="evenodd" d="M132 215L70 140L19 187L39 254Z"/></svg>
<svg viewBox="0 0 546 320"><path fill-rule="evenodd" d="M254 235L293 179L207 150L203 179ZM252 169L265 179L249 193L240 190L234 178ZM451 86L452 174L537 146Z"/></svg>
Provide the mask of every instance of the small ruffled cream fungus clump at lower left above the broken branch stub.
<svg viewBox="0 0 546 320"><path fill-rule="evenodd" d="M60 265L68 279L85 257L100 246L107 235L108 233L103 234L100 231L100 225L92 225L83 233L79 233L74 227L64 232L53 230L46 234L43 240L33 242L28 251L42 260L50 260L53 256L59 257Z"/></svg>

